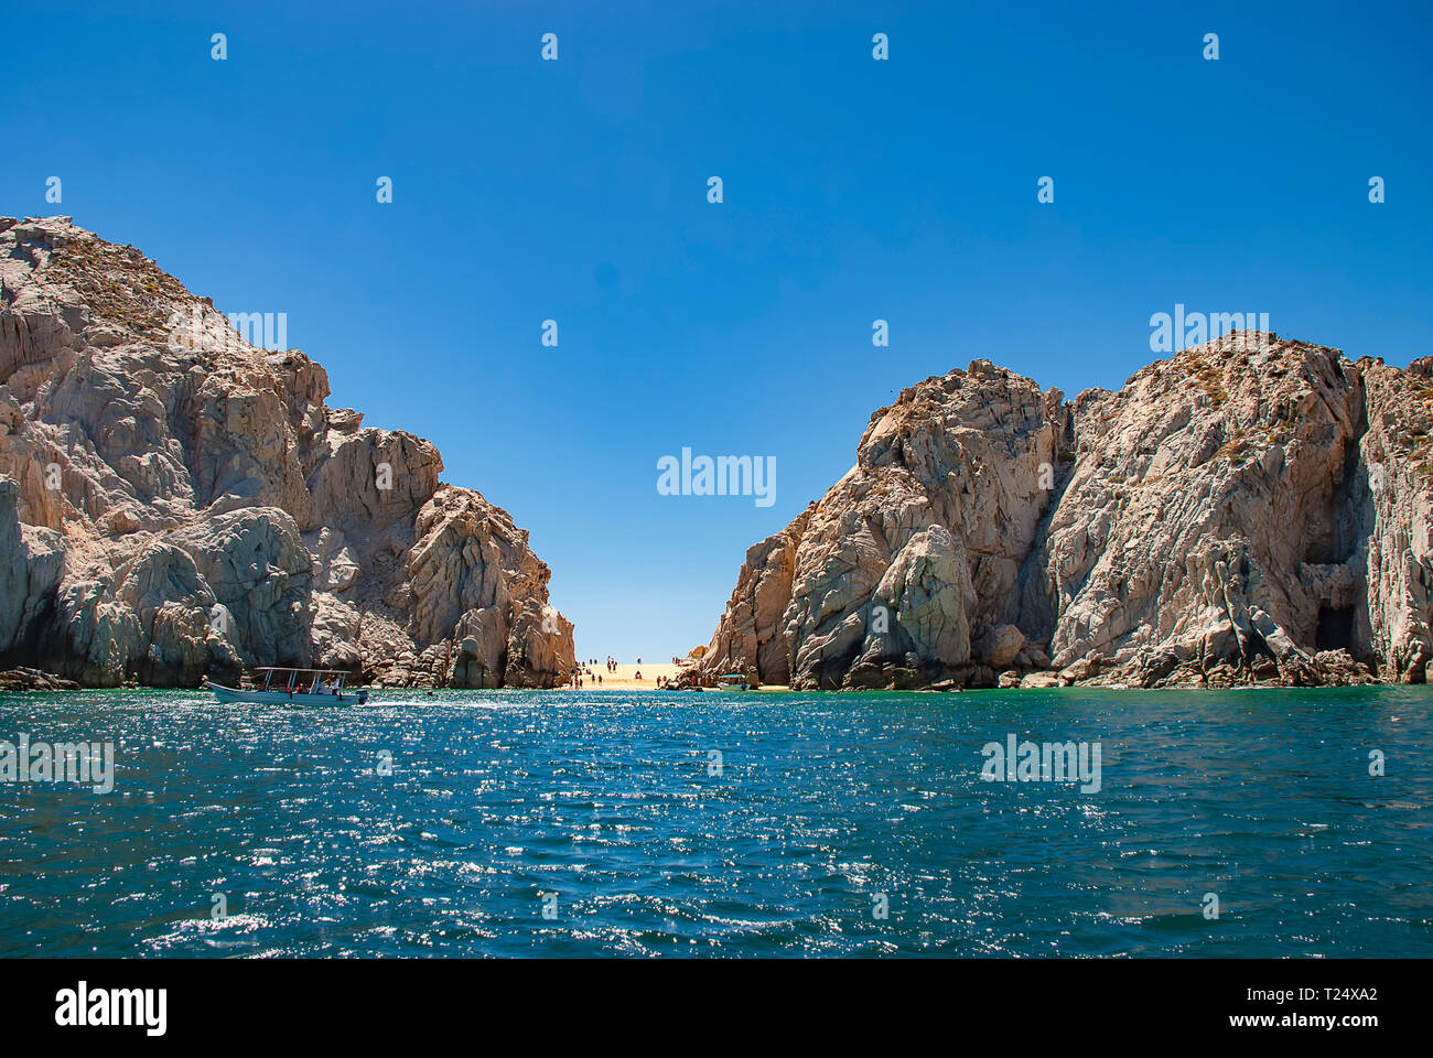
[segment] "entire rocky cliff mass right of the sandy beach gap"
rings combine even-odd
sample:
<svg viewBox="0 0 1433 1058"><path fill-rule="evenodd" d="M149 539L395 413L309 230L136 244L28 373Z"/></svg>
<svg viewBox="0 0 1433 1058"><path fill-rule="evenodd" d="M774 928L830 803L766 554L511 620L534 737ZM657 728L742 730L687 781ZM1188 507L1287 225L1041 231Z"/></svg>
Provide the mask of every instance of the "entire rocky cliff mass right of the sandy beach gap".
<svg viewBox="0 0 1433 1058"><path fill-rule="evenodd" d="M747 552L702 672L1424 682L1430 367L1250 331L1073 401L984 360L927 378Z"/></svg>

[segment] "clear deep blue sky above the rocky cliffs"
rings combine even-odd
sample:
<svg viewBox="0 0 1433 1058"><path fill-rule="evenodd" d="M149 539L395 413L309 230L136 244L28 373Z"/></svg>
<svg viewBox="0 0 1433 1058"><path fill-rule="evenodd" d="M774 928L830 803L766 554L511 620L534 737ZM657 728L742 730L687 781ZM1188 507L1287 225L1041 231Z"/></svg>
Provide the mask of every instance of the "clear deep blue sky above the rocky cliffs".
<svg viewBox="0 0 1433 1058"><path fill-rule="evenodd" d="M287 313L331 404L532 532L580 657L706 642L870 413L976 357L1118 387L1176 302L1433 353L1427 3L7 0L3 27L0 214ZM774 456L775 502L659 495L684 446Z"/></svg>

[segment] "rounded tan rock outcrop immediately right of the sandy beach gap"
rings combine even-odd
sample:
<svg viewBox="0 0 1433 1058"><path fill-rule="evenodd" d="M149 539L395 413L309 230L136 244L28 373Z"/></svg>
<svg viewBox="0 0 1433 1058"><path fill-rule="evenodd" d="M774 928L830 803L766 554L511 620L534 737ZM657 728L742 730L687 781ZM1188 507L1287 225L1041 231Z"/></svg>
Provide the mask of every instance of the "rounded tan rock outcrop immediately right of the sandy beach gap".
<svg viewBox="0 0 1433 1058"><path fill-rule="evenodd" d="M748 552L704 672L831 688L989 668L972 644L1017 616L1068 419L1058 390L983 360L904 390L871 416L845 477ZM767 589L755 622L748 585Z"/></svg>

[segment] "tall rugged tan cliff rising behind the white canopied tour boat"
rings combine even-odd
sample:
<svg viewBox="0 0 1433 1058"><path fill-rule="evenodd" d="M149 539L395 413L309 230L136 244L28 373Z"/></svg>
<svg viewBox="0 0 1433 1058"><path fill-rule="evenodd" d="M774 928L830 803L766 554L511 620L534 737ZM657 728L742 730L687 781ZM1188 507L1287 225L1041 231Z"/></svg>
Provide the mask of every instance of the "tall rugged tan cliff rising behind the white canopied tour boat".
<svg viewBox="0 0 1433 1058"><path fill-rule="evenodd" d="M245 664L550 687L527 533L428 442L330 409L132 247L0 218L0 668L193 685Z"/></svg>

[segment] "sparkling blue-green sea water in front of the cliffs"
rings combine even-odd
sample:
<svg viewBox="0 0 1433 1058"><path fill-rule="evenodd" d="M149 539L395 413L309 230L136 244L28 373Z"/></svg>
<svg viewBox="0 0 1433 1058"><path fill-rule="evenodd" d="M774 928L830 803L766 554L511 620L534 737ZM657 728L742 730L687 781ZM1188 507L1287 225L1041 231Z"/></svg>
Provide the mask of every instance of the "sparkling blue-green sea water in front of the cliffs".
<svg viewBox="0 0 1433 1058"><path fill-rule="evenodd" d="M0 955L1429 956L1430 705L0 695L0 740L116 743L112 793L0 786ZM1101 788L983 781L1010 734Z"/></svg>

